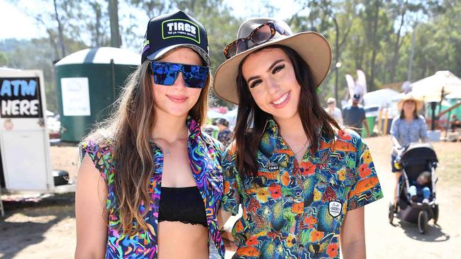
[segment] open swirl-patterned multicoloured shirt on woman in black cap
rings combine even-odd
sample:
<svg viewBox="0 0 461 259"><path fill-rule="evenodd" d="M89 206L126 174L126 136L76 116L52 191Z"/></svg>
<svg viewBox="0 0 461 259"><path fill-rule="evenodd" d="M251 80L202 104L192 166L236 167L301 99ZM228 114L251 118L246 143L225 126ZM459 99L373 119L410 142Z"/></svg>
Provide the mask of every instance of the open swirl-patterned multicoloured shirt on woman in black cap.
<svg viewBox="0 0 461 259"><path fill-rule="evenodd" d="M218 251L218 257L224 258L224 244L218 229L216 212L220 206L223 178L221 158L223 147L216 139L201 132L197 123L187 118L189 139L189 165L196 181L197 188L204 200L206 221L209 228L210 257L213 251ZM160 190L162 183L163 154L157 145L150 142L155 171L150 178L149 192L152 202L148 206L140 206L140 212L148 209L144 219L148 224L148 231L139 231L133 236L126 236L117 227L121 223L117 212L117 200L114 194L114 167L110 140L106 144L96 144L91 140L82 142L82 158L89 154L96 168L106 180L108 197L106 209L109 214L109 228L107 232L106 258L157 258L157 224L160 205Z"/></svg>

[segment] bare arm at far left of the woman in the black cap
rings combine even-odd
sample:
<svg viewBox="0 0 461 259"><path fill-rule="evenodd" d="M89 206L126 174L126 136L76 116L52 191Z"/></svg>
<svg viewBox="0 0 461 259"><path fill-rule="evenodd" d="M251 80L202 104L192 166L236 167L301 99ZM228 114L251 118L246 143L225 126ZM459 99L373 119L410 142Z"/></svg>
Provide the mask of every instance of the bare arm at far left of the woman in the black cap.
<svg viewBox="0 0 461 259"><path fill-rule="evenodd" d="M104 258L107 241L106 199L106 182L87 154L79 168L75 192L75 258Z"/></svg>

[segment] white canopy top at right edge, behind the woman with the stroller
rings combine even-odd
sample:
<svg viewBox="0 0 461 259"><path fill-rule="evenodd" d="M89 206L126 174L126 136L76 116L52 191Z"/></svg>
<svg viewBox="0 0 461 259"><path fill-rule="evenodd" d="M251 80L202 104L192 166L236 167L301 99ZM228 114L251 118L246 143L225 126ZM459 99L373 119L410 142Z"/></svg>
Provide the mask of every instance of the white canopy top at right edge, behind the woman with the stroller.
<svg viewBox="0 0 461 259"><path fill-rule="evenodd" d="M426 102L440 101L442 89L444 94L460 91L461 79L450 71L437 71L433 76L411 84L411 94L423 98Z"/></svg>

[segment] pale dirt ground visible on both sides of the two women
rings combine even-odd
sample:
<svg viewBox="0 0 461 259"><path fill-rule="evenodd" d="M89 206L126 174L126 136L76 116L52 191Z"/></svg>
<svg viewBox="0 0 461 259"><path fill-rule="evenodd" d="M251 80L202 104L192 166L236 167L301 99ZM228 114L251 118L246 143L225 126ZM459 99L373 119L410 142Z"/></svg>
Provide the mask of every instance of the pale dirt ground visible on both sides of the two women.
<svg viewBox="0 0 461 259"><path fill-rule="evenodd" d="M394 219L387 209L394 178L390 172L389 137L366 139L370 146L384 199L367 205L365 227L367 258L459 258L461 246L461 143L434 144L439 158L438 225L429 222L426 234L415 224ZM77 172L77 148L52 146L53 168ZM75 248L74 194L3 195L5 217L0 219L0 258L73 258ZM230 258L231 253L226 255Z"/></svg>

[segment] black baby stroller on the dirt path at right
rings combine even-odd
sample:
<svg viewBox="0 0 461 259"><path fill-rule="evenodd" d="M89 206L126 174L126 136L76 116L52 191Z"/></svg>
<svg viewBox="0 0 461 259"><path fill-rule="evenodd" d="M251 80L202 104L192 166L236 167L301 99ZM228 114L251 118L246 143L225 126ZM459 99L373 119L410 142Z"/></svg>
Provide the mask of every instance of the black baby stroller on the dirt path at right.
<svg viewBox="0 0 461 259"><path fill-rule="evenodd" d="M435 200L435 168L437 168L437 156L431 144L429 143L411 143L399 152L395 161L396 168L402 169L402 175L399 180L398 192L399 199L397 204L389 204L389 223L395 217L404 221L418 224L421 234L426 232L428 221L433 219L434 224L438 220L438 202ZM409 195L410 183L416 180L418 175L423 171L431 172L430 183L431 197L429 202L422 202L423 197L418 191L418 198L412 201Z"/></svg>

